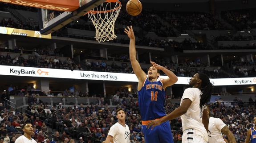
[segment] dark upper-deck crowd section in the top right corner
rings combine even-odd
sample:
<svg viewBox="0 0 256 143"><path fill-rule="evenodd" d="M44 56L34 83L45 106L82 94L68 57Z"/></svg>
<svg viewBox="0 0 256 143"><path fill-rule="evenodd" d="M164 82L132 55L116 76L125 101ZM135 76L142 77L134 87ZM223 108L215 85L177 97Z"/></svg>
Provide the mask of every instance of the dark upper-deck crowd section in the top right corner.
<svg viewBox="0 0 256 143"><path fill-rule="evenodd" d="M227 20L238 30L246 30L256 27L256 9L243 9L221 12L222 18Z"/></svg>

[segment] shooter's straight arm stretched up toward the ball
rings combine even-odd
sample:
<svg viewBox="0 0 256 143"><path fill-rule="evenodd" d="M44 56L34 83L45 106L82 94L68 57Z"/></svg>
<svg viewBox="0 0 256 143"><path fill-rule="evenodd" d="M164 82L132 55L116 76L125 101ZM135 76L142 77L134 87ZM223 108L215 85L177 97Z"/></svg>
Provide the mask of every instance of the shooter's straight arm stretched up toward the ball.
<svg viewBox="0 0 256 143"><path fill-rule="evenodd" d="M132 69L133 69L134 73L136 74L136 76L139 80L139 83L141 82L143 84L144 80L146 79L146 73L144 73L144 71L141 69L141 67L136 59L134 31L132 29L132 26L127 27L127 29L125 29L125 33L130 38L129 53L130 53L130 62L132 65Z"/></svg>

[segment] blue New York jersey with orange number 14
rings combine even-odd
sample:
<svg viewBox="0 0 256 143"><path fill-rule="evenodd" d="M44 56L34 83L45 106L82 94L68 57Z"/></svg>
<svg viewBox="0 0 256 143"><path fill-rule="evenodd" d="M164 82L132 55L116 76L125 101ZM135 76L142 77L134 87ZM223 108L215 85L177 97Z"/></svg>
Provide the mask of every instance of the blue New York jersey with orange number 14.
<svg viewBox="0 0 256 143"><path fill-rule="evenodd" d="M138 106L142 121L154 120L166 115L164 109L165 90L161 81L144 81L142 89L138 91Z"/></svg>

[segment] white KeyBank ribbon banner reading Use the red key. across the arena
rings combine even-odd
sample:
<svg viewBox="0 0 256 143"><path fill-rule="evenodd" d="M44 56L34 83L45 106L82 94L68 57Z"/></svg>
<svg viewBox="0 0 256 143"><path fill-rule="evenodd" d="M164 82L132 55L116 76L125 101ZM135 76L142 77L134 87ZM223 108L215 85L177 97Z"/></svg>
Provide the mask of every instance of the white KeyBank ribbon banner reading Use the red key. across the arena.
<svg viewBox="0 0 256 143"><path fill-rule="evenodd" d="M27 76L27 77L53 77L101 81L130 81L138 82L135 74L130 73L108 73L82 70L60 70L21 66L0 66L0 75ZM164 79L167 76L160 76ZM191 77L178 77L176 84L187 85ZM219 85L256 85L256 77L244 78L215 78L210 79L215 86Z"/></svg>

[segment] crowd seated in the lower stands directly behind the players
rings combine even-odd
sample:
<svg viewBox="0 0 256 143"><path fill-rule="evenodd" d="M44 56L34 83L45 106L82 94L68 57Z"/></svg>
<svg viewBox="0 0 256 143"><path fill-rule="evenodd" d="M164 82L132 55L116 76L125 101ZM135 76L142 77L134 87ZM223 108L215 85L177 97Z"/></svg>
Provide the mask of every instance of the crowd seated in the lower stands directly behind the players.
<svg viewBox="0 0 256 143"><path fill-rule="evenodd" d="M117 92L118 94L118 92ZM210 104L211 116L220 118L236 137L237 143L243 143L249 128L255 126L253 117L255 102L252 98L249 103L235 99L236 103L223 103L216 100ZM64 108L62 103L50 107L48 104L28 101L25 112L16 112L7 109L0 103L0 138L14 143L20 134L20 127L26 122L33 124L37 143L101 143L106 139L110 127L117 122L115 111L122 107L126 112L126 124L130 127L131 143L144 143L142 134L141 116L138 110L138 101L122 98L117 107L110 108L108 104L83 105ZM166 112L170 113L179 104L172 104L167 100ZM170 121L175 143L181 143L181 118ZM52 127L52 128L50 128ZM227 141L227 137L223 135ZM79 141L78 141L79 140Z"/></svg>

